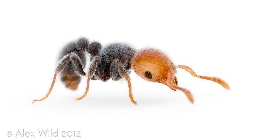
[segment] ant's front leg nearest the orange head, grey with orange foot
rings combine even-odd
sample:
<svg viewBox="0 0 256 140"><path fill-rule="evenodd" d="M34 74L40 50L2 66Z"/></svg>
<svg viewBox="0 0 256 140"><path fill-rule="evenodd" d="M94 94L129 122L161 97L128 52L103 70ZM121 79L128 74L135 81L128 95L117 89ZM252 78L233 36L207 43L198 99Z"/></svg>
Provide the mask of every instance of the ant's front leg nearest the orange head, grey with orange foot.
<svg viewBox="0 0 256 140"><path fill-rule="evenodd" d="M119 60L114 60L115 61L115 64L117 65L117 68L118 68L118 73L124 77L126 79L126 81L128 82L128 87L129 87L129 97L130 97L130 100L131 102L133 102L135 105L137 105L137 102L134 101L133 99L133 94L131 92L131 81L130 81L130 76L127 72L127 70L123 67L121 61Z"/></svg>

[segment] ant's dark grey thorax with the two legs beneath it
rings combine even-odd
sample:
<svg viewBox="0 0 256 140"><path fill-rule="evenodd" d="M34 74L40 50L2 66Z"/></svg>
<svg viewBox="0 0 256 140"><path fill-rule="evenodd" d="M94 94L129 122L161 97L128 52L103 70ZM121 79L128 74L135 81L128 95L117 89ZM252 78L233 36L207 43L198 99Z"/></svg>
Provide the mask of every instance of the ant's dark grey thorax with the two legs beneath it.
<svg viewBox="0 0 256 140"><path fill-rule="evenodd" d="M106 46L102 50L94 49L94 51L99 53L92 59L90 63L86 92L76 100L80 100L86 96L90 79L102 80L106 82L110 78L114 81L125 78L129 87L130 100L137 105L137 102L135 102L133 99L129 77L131 70L130 61L134 55L134 49L126 44L115 43ZM94 53L94 51L88 52L91 54Z"/></svg>

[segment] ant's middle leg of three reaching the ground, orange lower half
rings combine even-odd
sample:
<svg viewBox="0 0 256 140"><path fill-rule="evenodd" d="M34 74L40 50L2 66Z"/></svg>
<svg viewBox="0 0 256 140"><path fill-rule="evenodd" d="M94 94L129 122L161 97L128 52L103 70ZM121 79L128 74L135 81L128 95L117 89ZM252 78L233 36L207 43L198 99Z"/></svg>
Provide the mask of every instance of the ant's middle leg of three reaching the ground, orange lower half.
<svg viewBox="0 0 256 140"><path fill-rule="evenodd" d="M90 79L91 79L91 77L93 76L93 74L94 74L95 71L96 71L97 63L99 63L99 62L98 62L98 59L99 59L98 56L95 56L95 57L93 58L93 60L91 60L90 67L89 67L89 71L88 71L88 77L87 77L86 91L85 91L85 93L83 93L83 96L81 96L81 97L79 97L79 98L77 98L77 99L75 99L75 100L83 99L83 97L85 97L86 94L87 94L87 92L89 91Z"/></svg>

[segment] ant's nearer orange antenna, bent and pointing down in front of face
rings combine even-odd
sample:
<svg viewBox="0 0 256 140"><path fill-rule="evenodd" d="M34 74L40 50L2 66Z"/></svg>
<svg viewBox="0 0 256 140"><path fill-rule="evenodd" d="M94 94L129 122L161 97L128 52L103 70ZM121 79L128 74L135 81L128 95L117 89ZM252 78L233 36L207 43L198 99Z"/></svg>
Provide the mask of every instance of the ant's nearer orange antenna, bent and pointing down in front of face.
<svg viewBox="0 0 256 140"><path fill-rule="evenodd" d="M168 85L168 87L170 87L171 89L174 88L174 89L178 89L178 90L183 91L183 92L186 94L186 96L187 96L187 98L189 99L189 101L190 101L191 103L194 102L193 96L192 96L192 94L190 93L190 91L188 91L187 89L181 88L181 87L179 87L178 85L176 85L176 84L173 83L173 77L172 77L172 75L171 75L171 72L168 72L168 75L167 75L167 85Z"/></svg>

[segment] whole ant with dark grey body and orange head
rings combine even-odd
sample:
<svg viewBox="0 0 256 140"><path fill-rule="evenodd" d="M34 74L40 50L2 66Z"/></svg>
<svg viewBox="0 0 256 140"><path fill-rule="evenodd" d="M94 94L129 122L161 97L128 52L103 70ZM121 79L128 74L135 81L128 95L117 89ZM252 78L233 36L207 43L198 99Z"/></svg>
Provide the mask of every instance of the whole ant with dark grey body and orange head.
<svg viewBox="0 0 256 140"><path fill-rule="evenodd" d="M86 52L91 56L87 75L83 71ZM76 100L86 96L90 80L106 82L110 78L114 81L124 78L128 83L130 100L137 105L131 92L129 77L131 69L133 69L138 76L147 81L165 84L174 91L183 91L189 101L193 103L194 99L190 91L178 85L178 79L175 76L176 68L182 68L195 77L217 82L222 87L230 89L229 85L220 78L197 75L188 66L175 66L168 56L157 49L149 48L136 51L129 45L121 43L110 44L102 48L98 42L89 44L87 39L80 38L77 42L70 43L63 48L49 92L42 99L33 102L42 101L49 96L57 74L61 73L62 82L71 90L77 89L81 76L87 77L86 91Z"/></svg>

